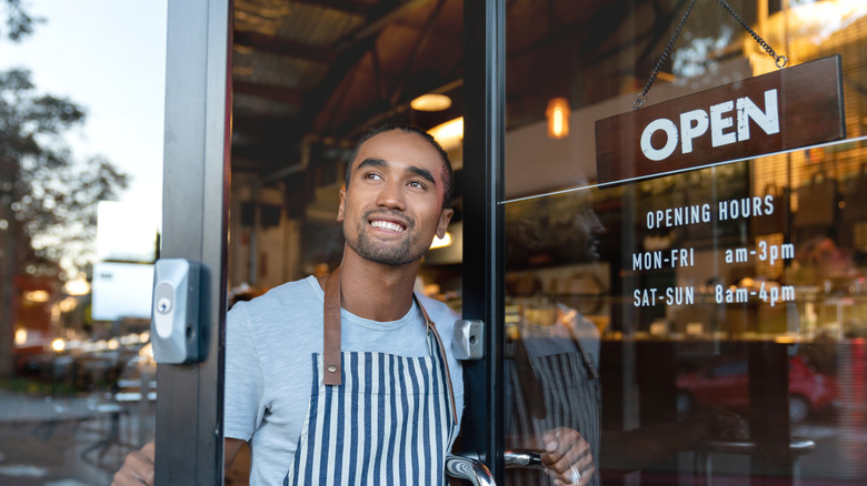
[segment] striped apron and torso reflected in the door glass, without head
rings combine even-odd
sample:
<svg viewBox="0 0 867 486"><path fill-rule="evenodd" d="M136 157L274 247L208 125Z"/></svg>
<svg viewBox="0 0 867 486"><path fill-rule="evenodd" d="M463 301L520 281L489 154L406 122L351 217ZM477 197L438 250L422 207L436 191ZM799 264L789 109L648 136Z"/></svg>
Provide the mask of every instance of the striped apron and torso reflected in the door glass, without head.
<svg viewBox="0 0 867 486"><path fill-rule="evenodd" d="M569 434L581 444L575 478L567 484L598 485L599 333L577 312L545 298L524 301L524 316L509 334L507 361L507 448L552 448ZM570 472L571 475L571 472ZM536 472L510 472L510 484L545 484ZM561 482L562 483L562 482Z"/></svg>

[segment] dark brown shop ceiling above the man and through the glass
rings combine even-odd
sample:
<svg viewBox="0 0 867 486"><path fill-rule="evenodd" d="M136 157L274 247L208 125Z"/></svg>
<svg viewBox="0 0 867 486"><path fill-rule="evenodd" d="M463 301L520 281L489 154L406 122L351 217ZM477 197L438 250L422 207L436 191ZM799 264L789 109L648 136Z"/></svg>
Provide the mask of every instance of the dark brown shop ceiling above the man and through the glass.
<svg viewBox="0 0 867 486"><path fill-rule="evenodd" d="M594 90L601 98L620 89L624 70L651 57L637 57L635 36L657 44L684 2L508 1L510 123L542 118L552 93L581 104ZM319 148L317 156L339 159L367 125L429 129L460 117L462 9L462 0L236 0L232 170L298 178L309 172L305 142ZM618 34L621 26L628 36ZM632 53L618 55L624 49ZM614 88L572 78L576 61L609 59L628 60L611 69ZM429 92L450 95L452 108L409 108Z"/></svg>

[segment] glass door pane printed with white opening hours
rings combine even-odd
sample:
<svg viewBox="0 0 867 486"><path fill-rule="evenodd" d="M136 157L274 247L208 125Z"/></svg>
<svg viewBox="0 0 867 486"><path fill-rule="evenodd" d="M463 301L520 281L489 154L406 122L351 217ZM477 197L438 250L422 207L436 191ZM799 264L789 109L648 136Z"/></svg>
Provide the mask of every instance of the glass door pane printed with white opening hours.
<svg viewBox="0 0 867 486"><path fill-rule="evenodd" d="M779 71L716 2L681 22L689 4L502 6L504 220L489 222L502 246L488 260L502 282L489 301L502 305L497 455L577 432L592 458L576 456L581 484L863 482L867 16L844 1L730 2L786 55L784 73L840 55L843 112L804 109L798 123L830 114L821 126L841 119L843 139L756 153L741 132L716 161L605 175L627 162L601 163L600 140L668 150L644 126L600 122L636 112L651 73L636 113ZM717 134L736 136L745 97L728 115L714 115L717 102L695 108L709 110L709 126L681 125L670 150L727 143ZM754 136L773 131L741 122ZM500 484L550 484L505 467Z"/></svg>

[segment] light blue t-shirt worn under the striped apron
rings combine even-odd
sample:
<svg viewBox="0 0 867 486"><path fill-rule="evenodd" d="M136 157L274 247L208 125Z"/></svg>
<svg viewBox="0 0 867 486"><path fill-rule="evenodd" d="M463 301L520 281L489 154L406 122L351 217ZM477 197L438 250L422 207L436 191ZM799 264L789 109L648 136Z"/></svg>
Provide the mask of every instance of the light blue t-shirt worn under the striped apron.
<svg viewBox="0 0 867 486"><path fill-rule="evenodd" d="M464 375L451 353L457 315L439 301L418 297L442 340L460 417ZM295 457L310 401L311 355L322 353L323 298L318 281L309 276L239 302L228 314L225 435L250 441L251 485L282 484ZM341 316L341 351L429 354L425 320L415 303L393 322L346 310Z"/></svg>

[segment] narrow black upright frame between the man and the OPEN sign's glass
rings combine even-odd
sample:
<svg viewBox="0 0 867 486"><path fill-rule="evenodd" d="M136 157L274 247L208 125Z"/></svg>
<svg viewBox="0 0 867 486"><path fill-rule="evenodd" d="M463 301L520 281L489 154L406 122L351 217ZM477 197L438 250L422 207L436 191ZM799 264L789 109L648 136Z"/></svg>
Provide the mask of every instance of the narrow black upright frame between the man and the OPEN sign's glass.
<svg viewBox="0 0 867 486"><path fill-rule="evenodd" d="M465 363L461 441L502 478L506 2L466 0L464 32L464 318L485 323L485 358Z"/></svg>

